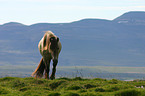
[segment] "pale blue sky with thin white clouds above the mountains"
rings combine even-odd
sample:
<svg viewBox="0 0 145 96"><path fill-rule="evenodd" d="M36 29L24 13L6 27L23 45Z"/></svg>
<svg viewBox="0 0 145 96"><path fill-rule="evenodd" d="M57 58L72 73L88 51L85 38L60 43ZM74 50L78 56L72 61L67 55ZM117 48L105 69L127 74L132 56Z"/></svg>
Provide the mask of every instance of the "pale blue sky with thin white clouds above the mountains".
<svg viewBox="0 0 145 96"><path fill-rule="evenodd" d="M129 11L145 11L145 0L0 0L0 25L113 20Z"/></svg>

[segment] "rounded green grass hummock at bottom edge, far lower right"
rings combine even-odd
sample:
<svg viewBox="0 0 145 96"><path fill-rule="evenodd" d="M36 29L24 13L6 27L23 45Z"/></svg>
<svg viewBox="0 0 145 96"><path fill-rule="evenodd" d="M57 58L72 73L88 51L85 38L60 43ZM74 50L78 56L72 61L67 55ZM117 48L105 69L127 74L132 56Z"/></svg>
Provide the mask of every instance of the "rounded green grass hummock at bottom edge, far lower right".
<svg viewBox="0 0 145 96"><path fill-rule="evenodd" d="M125 89L117 92L115 96L140 96L140 92L135 89Z"/></svg>

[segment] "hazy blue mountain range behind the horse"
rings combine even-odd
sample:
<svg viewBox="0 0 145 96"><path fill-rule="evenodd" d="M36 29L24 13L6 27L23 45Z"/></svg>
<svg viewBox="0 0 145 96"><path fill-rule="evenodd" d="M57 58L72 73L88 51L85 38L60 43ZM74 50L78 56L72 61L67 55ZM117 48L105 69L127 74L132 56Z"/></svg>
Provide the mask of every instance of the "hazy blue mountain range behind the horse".
<svg viewBox="0 0 145 96"><path fill-rule="evenodd" d="M114 20L71 23L10 22L0 25L0 65L36 65L44 31L61 40L59 66L145 67L145 12L127 12Z"/></svg>

